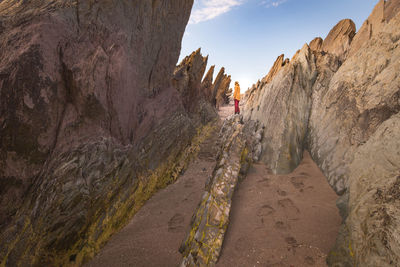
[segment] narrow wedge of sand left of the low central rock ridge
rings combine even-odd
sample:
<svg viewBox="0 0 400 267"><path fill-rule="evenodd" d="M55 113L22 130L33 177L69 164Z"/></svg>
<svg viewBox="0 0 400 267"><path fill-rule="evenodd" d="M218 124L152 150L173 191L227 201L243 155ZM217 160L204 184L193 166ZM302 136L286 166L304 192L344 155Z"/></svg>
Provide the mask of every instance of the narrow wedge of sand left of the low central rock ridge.
<svg viewBox="0 0 400 267"><path fill-rule="evenodd" d="M188 230L207 177L212 173L217 154L215 142L219 128L200 148L177 182L156 193L115 234L87 266L178 266L178 248Z"/></svg>

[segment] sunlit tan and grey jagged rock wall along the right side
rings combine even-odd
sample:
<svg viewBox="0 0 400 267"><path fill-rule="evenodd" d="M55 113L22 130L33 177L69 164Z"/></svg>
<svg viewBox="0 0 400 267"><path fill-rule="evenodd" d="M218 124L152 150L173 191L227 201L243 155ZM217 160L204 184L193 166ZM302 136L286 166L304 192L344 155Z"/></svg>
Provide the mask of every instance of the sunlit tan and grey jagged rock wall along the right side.
<svg viewBox="0 0 400 267"><path fill-rule="evenodd" d="M265 126L261 160L287 173L307 148L341 195L332 266L400 262L399 2L380 1L355 36L354 23L339 22L247 96L245 119Z"/></svg>

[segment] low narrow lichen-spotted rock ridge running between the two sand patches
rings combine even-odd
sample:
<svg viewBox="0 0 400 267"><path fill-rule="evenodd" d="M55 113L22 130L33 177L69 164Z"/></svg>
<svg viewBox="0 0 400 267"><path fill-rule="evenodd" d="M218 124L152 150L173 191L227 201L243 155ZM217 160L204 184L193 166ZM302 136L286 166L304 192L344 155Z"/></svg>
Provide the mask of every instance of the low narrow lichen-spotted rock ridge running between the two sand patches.
<svg viewBox="0 0 400 267"><path fill-rule="evenodd" d="M245 127L241 115L225 120L220 131L217 164L179 249L184 256L181 266L211 266L218 261L233 194L239 179L246 175L250 163L257 157L256 147L262 134L263 128L254 122Z"/></svg>

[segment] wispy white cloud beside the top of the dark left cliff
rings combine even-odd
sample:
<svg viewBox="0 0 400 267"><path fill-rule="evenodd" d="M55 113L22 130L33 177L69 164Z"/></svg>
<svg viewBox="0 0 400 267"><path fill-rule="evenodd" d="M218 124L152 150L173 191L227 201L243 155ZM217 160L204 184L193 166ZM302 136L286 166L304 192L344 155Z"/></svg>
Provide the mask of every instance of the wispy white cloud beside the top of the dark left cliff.
<svg viewBox="0 0 400 267"><path fill-rule="evenodd" d="M193 7L189 23L197 24L199 22L214 19L233 7L240 6L244 0L197 0Z"/></svg>

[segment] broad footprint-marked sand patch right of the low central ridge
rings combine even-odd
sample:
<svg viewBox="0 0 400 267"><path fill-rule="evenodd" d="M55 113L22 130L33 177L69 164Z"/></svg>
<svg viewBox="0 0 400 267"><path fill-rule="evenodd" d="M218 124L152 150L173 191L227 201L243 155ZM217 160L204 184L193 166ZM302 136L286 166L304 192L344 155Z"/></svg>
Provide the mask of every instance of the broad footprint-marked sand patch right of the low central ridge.
<svg viewBox="0 0 400 267"><path fill-rule="evenodd" d="M232 200L217 266L326 266L341 218L308 152L288 175L254 164Z"/></svg>

